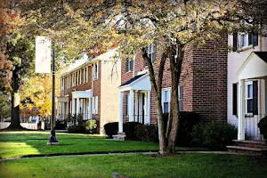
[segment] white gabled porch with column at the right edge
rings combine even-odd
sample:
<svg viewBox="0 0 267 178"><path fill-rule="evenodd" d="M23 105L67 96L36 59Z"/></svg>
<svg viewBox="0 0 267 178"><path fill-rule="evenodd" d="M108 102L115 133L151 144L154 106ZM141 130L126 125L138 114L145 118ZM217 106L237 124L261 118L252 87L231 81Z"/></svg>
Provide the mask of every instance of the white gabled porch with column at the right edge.
<svg viewBox="0 0 267 178"><path fill-rule="evenodd" d="M251 53L238 76L238 140L263 140L257 124L267 110L267 52Z"/></svg>

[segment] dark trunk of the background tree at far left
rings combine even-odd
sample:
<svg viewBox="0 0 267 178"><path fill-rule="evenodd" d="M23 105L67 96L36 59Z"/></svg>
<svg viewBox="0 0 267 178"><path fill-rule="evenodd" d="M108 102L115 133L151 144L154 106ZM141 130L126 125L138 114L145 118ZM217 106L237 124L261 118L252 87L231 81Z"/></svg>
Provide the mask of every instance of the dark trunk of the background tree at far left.
<svg viewBox="0 0 267 178"><path fill-rule="evenodd" d="M19 76L16 69L12 73L12 119L8 129L21 129Z"/></svg>

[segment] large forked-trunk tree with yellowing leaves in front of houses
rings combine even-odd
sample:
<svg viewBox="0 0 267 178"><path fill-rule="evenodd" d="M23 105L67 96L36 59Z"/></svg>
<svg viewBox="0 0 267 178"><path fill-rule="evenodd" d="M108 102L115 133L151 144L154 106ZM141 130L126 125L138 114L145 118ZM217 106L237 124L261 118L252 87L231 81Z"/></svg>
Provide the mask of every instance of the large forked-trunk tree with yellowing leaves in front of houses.
<svg viewBox="0 0 267 178"><path fill-rule="evenodd" d="M179 125L177 88L184 53L188 48L198 48L209 40L220 39L234 30L256 29L257 23L251 26L256 21L250 19L249 14L244 16L244 2L246 1L49 1L57 5L53 6L53 10L37 5L38 11L34 14L28 13L28 17L33 21L41 20L43 24L39 28L49 33L60 34L61 37L58 37L61 41L68 36L67 48L73 42L81 44L79 46L82 50L78 50L79 52L92 47L108 47L110 43L118 43L119 51L123 55L141 49L142 57L150 70L150 83L156 98L160 153L168 155L175 151L174 143ZM44 14L53 17L53 24L45 21ZM146 51L146 46L156 40L163 52L161 59L157 59L158 76ZM172 101L168 123L164 125L161 85L167 59L170 61L172 74Z"/></svg>

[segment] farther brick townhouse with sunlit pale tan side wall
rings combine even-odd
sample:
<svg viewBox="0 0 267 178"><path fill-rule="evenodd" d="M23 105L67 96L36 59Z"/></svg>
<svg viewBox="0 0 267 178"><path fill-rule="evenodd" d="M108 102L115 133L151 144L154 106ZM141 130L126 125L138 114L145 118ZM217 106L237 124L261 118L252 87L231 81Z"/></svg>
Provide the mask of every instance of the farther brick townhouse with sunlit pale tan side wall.
<svg viewBox="0 0 267 178"><path fill-rule="evenodd" d="M114 59L116 49L99 56L82 59L61 74L61 96L57 97L58 117L81 114L103 125L118 121L118 89L121 61Z"/></svg>

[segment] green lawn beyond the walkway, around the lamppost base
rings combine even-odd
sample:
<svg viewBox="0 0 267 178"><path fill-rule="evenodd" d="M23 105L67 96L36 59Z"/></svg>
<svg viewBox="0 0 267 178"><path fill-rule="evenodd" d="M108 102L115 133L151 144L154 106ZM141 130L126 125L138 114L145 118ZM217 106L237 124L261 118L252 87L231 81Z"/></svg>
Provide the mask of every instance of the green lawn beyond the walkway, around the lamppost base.
<svg viewBox="0 0 267 178"><path fill-rule="evenodd" d="M84 134L57 134L60 145L47 146L50 134L42 132L0 133L0 158L129 151L158 151L156 142L108 141ZM196 150L177 148L177 150ZM199 150L199 149L197 149Z"/></svg>

